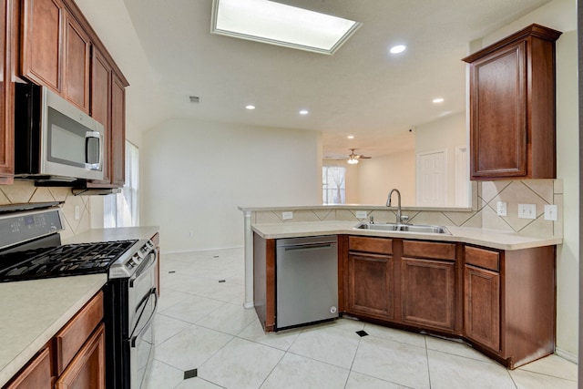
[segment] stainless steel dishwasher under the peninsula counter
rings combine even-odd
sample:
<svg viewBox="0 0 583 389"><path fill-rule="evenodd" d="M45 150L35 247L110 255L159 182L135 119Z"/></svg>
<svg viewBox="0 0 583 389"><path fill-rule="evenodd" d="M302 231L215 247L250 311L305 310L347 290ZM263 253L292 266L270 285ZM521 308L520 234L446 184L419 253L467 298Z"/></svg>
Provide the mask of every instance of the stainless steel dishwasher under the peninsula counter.
<svg viewBox="0 0 583 389"><path fill-rule="evenodd" d="M338 238L276 241L277 330L338 317Z"/></svg>

